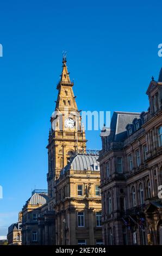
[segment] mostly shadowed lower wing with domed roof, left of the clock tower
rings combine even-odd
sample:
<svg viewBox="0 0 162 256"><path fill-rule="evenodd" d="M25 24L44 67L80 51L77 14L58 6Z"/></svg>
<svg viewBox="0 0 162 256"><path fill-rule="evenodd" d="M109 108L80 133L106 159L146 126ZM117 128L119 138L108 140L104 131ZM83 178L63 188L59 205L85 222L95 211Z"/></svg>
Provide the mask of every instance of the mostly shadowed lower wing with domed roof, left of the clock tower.
<svg viewBox="0 0 162 256"><path fill-rule="evenodd" d="M47 191L34 190L22 209L22 245L53 245L54 237L54 212L48 211Z"/></svg>

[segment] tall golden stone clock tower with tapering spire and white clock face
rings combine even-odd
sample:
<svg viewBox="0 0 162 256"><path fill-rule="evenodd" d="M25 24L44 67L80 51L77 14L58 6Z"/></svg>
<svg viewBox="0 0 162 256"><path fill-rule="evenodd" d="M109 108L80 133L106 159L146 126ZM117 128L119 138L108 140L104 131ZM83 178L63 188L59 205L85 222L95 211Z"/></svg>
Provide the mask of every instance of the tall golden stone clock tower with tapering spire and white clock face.
<svg viewBox="0 0 162 256"><path fill-rule="evenodd" d="M63 70L57 85L58 97L51 117L48 137L48 196L54 197L54 181L59 178L70 157L80 151L85 153L86 139L82 118L73 94L73 81L67 71L66 57L63 57Z"/></svg>

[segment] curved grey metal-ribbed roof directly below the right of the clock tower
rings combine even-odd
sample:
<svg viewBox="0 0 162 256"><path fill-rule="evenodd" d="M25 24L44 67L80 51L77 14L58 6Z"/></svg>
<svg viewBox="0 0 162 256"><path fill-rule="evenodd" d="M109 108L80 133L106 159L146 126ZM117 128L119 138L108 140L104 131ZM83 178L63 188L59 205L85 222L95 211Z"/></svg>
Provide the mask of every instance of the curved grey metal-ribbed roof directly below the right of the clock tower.
<svg viewBox="0 0 162 256"><path fill-rule="evenodd" d="M61 170L60 175L63 175L67 170L95 170L94 165L98 164L98 155L78 154L71 158L70 162ZM99 167L98 167L99 168Z"/></svg>

